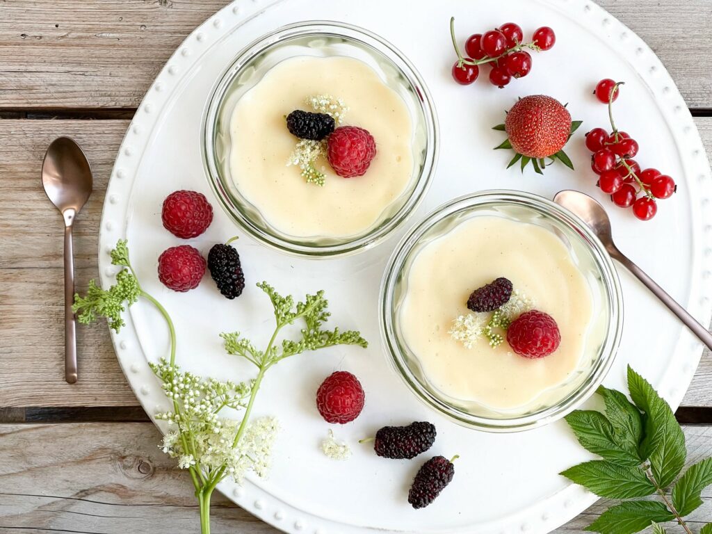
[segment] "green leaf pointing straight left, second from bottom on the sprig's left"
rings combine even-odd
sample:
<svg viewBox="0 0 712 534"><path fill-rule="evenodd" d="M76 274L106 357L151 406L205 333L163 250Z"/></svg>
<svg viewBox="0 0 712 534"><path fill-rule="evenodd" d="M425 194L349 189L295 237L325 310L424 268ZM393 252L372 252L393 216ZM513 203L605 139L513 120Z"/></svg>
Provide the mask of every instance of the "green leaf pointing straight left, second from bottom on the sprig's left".
<svg viewBox="0 0 712 534"><path fill-rule="evenodd" d="M627 499L646 497L656 491L641 468L618 466L605 460L587 461L560 474L599 497Z"/></svg>

